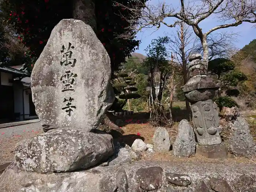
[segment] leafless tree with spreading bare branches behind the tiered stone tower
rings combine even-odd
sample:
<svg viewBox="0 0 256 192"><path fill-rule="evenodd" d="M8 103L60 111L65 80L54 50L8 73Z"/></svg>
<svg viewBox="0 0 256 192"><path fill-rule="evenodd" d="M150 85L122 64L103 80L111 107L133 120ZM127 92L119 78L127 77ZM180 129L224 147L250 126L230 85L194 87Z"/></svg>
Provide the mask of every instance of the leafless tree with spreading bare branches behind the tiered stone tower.
<svg viewBox="0 0 256 192"><path fill-rule="evenodd" d="M172 5L163 1L157 5L150 4L150 1L142 3L137 0L132 7L125 7L116 3L116 6L122 6L133 13L130 22L132 35L136 35L143 28L156 27L161 25L175 27L184 22L192 26L194 33L199 37L203 50L203 63L208 68L209 48L207 37L213 31L227 27L238 26L243 22L256 23L256 1L255 0L180 0L180 7L173 8ZM141 7L144 7L141 10ZM199 24L207 18L218 18L221 25L215 26L206 33L203 33ZM174 21L168 23L167 18L174 18ZM176 20L175 20L176 19ZM123 36L129 37L131 34ZM214 46L210 52L215 52Z"/></svg>

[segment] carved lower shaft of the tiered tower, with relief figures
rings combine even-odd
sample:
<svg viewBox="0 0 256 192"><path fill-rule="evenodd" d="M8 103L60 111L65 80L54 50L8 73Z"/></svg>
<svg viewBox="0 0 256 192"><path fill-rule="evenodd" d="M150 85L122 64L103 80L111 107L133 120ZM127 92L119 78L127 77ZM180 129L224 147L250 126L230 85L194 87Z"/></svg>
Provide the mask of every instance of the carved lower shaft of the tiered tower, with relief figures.
<svg viewBox="0 0 256 192"><path fill-rule="evenodd" d="M211 99L191 105L196 139L199 145L221 144L222 128L219 127L219 114Z"/></svg>

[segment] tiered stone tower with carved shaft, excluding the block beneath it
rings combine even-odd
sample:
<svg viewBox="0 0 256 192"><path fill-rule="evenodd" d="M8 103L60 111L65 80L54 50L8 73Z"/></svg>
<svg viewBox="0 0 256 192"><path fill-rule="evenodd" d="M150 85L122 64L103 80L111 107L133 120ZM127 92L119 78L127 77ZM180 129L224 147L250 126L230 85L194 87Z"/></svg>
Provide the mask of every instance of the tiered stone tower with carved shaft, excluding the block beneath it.
<svg viewBox="0 0 256 192"><path fill-rule="evenodd" d="M189 56L188 82L182 87L191 103L192 119L197 142L201 146L220 145L222 140L217 105L212 101L220 82L208 77L200 54ZM223 146L220 146L223 148Z"/></svg>

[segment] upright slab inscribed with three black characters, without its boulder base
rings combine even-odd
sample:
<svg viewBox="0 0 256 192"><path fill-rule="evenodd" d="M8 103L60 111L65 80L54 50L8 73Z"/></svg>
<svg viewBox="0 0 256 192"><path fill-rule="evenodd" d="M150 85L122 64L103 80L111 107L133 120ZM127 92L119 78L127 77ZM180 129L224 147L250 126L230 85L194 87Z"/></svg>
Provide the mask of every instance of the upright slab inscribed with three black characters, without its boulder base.
<svg viewBox="0 0 256 192"><path fill-rule="evenodd" d="M63 19L34 65L31 90L45 130L96 128L114 101L110 59L93 29Z"/></svg>

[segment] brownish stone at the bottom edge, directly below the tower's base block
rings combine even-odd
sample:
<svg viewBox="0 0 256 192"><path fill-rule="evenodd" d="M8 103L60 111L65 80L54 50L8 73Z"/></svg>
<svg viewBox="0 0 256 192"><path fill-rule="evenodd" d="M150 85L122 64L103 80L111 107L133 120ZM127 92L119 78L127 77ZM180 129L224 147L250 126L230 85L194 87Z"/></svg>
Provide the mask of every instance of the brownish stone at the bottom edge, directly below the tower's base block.
<svg viewBox="0 0 256 192"><path fill-rule="evenodd" d="M220 178L210 178L211 189L217 192L233 192L227 181Z"/></svg>

